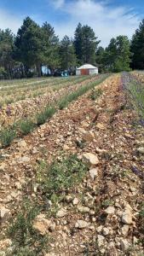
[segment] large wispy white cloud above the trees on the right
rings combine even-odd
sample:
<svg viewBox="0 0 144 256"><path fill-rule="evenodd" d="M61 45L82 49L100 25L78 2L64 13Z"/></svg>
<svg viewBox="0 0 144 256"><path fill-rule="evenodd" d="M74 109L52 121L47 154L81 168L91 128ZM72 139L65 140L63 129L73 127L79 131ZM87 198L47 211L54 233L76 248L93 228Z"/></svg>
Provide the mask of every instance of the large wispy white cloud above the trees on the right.
<svg viewBox="0 0 144 256"><path fill-rule="evenodd" d="M68 22L63 20L60 24L54 24L60 38L65 34L72 37L78 22L81 22L94 29L103 46L107 46L112 37L120 34L131 38L140 22L131 8L111 7L106 2L95 0L67 1L59 9L70 17Z"/></svg>

